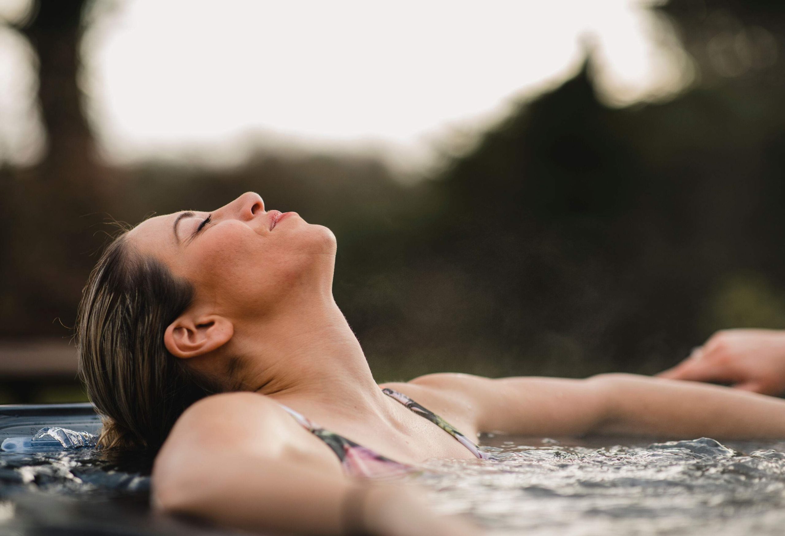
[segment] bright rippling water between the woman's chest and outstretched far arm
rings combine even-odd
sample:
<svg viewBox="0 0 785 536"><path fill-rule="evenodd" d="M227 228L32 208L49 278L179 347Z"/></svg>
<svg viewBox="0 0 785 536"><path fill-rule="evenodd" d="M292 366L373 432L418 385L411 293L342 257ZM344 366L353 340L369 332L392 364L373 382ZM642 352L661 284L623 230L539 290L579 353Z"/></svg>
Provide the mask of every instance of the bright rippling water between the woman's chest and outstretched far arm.
<svg viewBox="0 0 785 536"><path fill-rule="evenodd" d="M470 514L491 534L783 534L785 443L483 443L495 461L432 461L416 480L440 512Z"/></svg>

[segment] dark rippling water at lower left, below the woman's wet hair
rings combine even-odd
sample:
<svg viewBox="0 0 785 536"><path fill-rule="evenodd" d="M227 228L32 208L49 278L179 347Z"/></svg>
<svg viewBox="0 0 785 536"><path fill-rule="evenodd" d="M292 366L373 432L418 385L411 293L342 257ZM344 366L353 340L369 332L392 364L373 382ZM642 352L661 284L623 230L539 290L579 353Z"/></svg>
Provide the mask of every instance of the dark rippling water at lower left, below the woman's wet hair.
<svg viewBox="0 0 785 536"><path fill-rule="evenodd" d="M144 456L93 449L0 452L0 534L5 536L226 536L206 523L149 509Z"/></svg>

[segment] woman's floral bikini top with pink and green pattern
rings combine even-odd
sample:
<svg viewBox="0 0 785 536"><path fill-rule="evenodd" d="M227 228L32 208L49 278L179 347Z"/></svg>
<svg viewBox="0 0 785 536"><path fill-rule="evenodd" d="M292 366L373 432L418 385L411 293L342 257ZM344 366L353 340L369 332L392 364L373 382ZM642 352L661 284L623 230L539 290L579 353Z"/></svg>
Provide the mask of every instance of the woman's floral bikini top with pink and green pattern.
<svg viewBox="0 0 785 536"><path fill-rule="evenodd" d="M433 422L433 424L439 426L439 428L455 437L455 439L458 439L458 441L469 449L477 458L487 459L487 454L480 452L476 443L470 441L442 417L434 414L433 411L426 410L402 392L393 391L390 388L383 388L382 392L385 393L385 395L396 399L398 402L414 411L414 413ZM322 439L324 443L327 443L327 446L333 450L338 456L338 460L341 461L344 472L350 476L395 476L405 472L411 472L413 469L410 465L405 465L398 461L385 458L382 454L378 454L367 447L358 445L351 439L346 439L343 436L338 436L335 432L325 430L290 407L284 406L283 404L280 404L280 406L283 407L284 410L287 410L287 412L289 412L289 414L305 429L319 439Z"/></svg>

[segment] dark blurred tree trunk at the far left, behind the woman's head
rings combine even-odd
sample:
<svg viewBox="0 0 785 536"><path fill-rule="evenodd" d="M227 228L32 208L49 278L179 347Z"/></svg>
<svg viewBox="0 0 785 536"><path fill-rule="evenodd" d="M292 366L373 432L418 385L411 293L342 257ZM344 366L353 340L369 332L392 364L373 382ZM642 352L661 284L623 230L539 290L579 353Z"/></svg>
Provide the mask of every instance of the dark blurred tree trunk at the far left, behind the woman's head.
<svg viewBox="0 0 785 536"><path fill-rule="evenodd" d="M100 239L89 232L104 205L107 170L97 162L93 134L82 113L79 41L84 0L38 0L26 23L38 60L38 101L46 153L6 183L8 257L0 290L0 334L64 334Z"/></svg>

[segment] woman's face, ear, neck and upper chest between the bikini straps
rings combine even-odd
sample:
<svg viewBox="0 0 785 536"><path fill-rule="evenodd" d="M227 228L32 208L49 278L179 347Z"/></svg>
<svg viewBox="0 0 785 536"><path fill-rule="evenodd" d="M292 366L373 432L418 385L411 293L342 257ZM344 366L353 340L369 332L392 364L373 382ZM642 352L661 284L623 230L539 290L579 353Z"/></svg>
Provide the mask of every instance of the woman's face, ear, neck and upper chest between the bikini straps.
<svg viewBox="0 0 785 536"><path fill-rule="evenodd" d="M230 357L239 357L228 388L271 396L390 458L428 457L422 445L407 445L403 437L400 444L389 442L412 432L435 441L437 454L472 457L378 388L332 296L336 242L329 229L287 213L270 231L271 215L252 192L194 213L179 221L180 241L173 224L181 213L151 218L129 234L141 253L195 286L194 304L166 330L174 356L218 377ZM208 216L210 223L194 236ZM322 447L318 439L313 443Z"/></svg>

